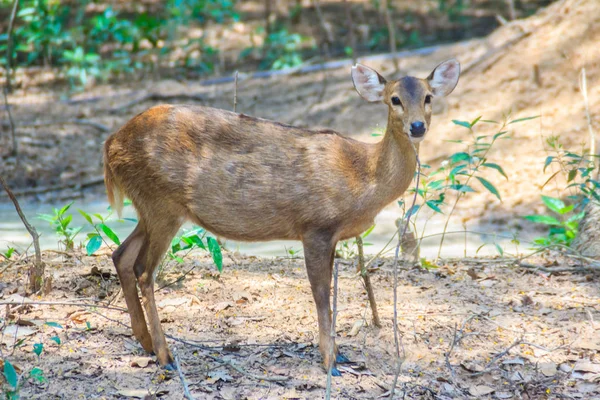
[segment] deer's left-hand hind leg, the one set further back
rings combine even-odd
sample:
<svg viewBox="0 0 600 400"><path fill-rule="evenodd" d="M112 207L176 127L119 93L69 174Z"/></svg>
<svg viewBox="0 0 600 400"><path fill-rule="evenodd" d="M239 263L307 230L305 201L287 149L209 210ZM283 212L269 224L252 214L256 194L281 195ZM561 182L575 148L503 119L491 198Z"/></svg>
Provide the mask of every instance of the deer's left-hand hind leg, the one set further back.
<svg viewBox="0 0 600 400"><path fill-rule="evenodd" d="M152 353L152 338L148 332L146 318L144 318L144 311L138 297L137 279L133 270L144 239L144 227L141 223L138 223L133 232L114 251L112 259L117 270L117 275L119 276L119 281L121 282L121 288L123 289L123 296L125 297L127 311L131 318L133 334L144 350Z"/></svg>

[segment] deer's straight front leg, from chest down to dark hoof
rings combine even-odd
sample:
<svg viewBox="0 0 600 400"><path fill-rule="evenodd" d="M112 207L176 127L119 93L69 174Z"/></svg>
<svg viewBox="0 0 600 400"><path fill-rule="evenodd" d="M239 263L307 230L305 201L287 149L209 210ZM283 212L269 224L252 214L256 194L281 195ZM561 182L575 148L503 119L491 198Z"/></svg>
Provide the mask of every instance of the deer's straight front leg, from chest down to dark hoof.
<svg viewBox="0 0 600 400"><path fill-rule="evenodd" d="M323 364L326 370L329 370L330 366L333 367L333 376L341 376L335 368L335 362L336 359L339 362L344 362L346 358L341 355L338 356L337 347L331 337L331 308L329 302L335 242L329 234L311 233L302 238L302 243L304 245L304 261L308 272L308 280L317 306L319 350L321 356L323 356Z"/></svg>

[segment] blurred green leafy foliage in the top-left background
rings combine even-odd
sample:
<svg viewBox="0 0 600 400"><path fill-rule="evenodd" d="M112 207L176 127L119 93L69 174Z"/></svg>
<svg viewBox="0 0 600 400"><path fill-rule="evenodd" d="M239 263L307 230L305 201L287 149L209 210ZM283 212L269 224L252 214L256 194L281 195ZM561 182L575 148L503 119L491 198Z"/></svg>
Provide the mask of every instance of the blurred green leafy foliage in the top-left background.
<svg viewBox="0 0 600 400"><path fill-rule="evenodd" d="M15 21L12 59L17 66L56 66L73 89L81 89L90 78L151 69L174 50L195 46L202 39L179 40L182 27L209 21L236 21L239 14L232 1L169 0L158 12L122 16L113 7L94 13L92 0L65 3L58 0L22 0ZM0 34L0 62L6 63L8 34ZM214 49L200 46L209 56ZM152 56L154 55L154 56ZM210 58L210 57L209 57ZM212 70L212 65L199 65Z"/></svg>

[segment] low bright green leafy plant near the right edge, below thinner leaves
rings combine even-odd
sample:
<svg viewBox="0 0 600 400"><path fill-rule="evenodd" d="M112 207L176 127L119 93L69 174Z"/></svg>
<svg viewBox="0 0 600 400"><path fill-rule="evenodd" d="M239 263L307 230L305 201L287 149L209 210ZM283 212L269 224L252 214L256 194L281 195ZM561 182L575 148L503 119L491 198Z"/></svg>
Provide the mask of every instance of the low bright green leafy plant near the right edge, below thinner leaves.
<svg viewBox="0 0 600 400"><path fill-rule="evenodd" d="M583 218L584 212L578 212L569 216L575 206L565 205L561 199L555 197L542 196L542 201L546 207L557 216L551 215L527 215L524 218L539 224L548 225L550 230L547 236L539 237L534 243L540 246L549 246L553 244L563 244L570 246L571 242L577 236L579 221Z"/></svg>

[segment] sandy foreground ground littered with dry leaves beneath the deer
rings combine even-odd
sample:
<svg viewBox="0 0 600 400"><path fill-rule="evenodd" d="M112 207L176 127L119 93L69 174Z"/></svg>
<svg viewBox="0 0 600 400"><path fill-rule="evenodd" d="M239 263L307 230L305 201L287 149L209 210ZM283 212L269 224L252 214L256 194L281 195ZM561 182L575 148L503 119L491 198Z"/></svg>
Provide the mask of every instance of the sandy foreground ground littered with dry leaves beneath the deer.
<svg viewBox="0 0 600 400"><path fill-rule="evenodd" d="M19 372L37 367L46 378L24 379L22 398L184 398L178 375L153 364L132 337L129 317L118 309L125 304L110 258L44 258L53 290L25 301L48 304L22 304L19 265L4 272L0 286L0 304L15 303L3 307L2 317L16 322L3 329L3 357ZM552 255L545 261L566 263ZM337 340L352 362L340 366L343 376L333 379L332 396L383 398L395 360L392 260L374 264L381 329L370 322L352 262L338 265ZM396 398L600 398L597 275L550 276L492 259L441 265L400 268L404 363ZM198 254L184 265L168 265L157 286L166 286L157 293L159 313L194 398L323 398L326 373L301 259L227 253L219 276ZM36 343L43 344L39 357Z"/></svg>

